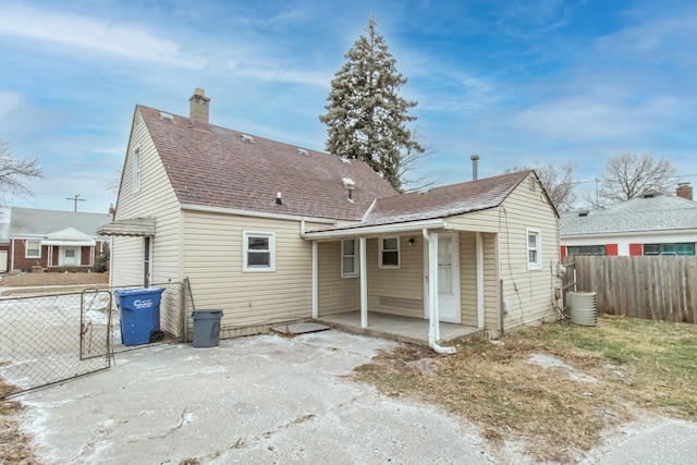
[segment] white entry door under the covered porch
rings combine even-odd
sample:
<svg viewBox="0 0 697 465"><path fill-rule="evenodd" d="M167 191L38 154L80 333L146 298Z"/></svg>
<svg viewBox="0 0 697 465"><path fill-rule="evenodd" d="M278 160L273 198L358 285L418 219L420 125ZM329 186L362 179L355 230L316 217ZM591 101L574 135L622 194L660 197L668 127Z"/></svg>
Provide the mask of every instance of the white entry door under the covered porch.
<svg viewBox="0 0 697 465"><path fill-rule="evenodd" d="M454 323L461 321L458 245L457 234L438 234L438 311Z"/></svg>

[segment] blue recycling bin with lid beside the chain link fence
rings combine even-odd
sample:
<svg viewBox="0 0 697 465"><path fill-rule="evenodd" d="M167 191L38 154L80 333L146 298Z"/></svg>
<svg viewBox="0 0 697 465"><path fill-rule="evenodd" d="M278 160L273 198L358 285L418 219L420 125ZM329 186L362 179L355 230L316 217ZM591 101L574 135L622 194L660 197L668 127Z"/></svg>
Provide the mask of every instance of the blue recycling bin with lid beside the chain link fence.
<svg viewBox="0 0 697 465"><path fill-rule="evenodd" d="M148 344L152 332L160 330L160 299L163 291L164 287L114 291L123 345Z"/></svg>

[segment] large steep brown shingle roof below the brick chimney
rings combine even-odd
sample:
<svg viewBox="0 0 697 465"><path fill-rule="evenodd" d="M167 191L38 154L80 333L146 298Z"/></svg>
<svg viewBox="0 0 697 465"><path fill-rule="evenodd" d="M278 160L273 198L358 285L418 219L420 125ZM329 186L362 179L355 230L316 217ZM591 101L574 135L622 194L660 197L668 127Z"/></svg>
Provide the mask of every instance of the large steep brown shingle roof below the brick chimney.
<svg viewBox="0 0 697 465"><path fill-rule="evenodd" d="M137 106L182 204L359 220L375 198L396 192L366 163ZM169 117L169 115L168 115ZM307 155L305 155L307 154ZM355 182L354 201L343 178ZM277 205L277 193L283 205Z"/></svg>

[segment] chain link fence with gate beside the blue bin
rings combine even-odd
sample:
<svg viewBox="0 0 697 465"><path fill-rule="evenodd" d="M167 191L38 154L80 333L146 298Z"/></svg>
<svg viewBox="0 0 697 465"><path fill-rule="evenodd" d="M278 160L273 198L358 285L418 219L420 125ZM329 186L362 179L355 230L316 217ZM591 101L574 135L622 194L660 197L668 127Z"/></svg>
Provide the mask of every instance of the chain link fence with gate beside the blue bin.
<svg viewBox="0 0 697 465"><path fill-rule="evenodd" d="M182 341L184 286L178 282L152 286L164 289L161 341ZM142 347L122 343L113 296L117 289L133 287L137 286L0 298L0 399L107 369L114 353Z"/></svg>

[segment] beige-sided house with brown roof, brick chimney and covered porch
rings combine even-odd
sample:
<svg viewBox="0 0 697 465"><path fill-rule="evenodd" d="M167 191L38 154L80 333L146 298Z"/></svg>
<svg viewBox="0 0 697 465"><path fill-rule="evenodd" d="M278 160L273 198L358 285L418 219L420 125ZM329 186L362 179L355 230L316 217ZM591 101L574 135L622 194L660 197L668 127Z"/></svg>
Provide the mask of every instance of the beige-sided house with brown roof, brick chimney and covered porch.
<svg viewBox="0 0 697 465"><path fill-rule="evenodd" d="M399 194L364 162L209 124L201 89L189 102L189 118L135 108L100 230L113 285L188 278L222 338L416 321L437 346L557 318L559 217L534 171Z"/></svg>

